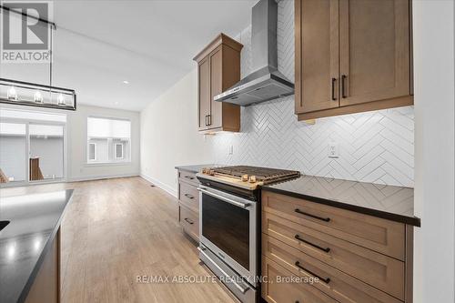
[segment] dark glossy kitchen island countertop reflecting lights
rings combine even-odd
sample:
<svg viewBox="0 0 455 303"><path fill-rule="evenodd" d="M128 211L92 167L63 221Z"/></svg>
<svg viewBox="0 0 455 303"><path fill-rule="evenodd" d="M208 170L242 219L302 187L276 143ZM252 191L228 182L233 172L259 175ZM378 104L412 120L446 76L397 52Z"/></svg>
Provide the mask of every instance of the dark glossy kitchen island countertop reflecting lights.
<svg viewBox="0 0 455 303"><path fill-rule="evenodd" d="M0 197L0 298L24 302L73 195L73 189Z"/></svg>

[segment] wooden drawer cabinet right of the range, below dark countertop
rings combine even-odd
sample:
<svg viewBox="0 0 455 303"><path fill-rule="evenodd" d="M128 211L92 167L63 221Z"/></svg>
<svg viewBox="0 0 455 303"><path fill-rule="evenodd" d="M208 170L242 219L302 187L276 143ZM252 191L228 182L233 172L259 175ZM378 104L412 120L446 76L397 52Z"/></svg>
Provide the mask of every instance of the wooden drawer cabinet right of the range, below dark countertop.
<svg viewBox="0 0 455 303"><path fill-rule="evenodd" d="M269 303L412 302L411 226L266 190L261 207L262 297ZM276 283L278 275L319 279Z"/></svg>

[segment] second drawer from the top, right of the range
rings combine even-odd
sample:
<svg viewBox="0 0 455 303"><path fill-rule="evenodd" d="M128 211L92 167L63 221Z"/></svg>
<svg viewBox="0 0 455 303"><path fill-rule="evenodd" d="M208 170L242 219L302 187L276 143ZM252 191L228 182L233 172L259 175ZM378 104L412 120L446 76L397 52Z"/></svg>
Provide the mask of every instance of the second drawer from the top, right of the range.
<svg viewBox="0 0 455 303"><path fill-rule="evenodd" d="M397 298L403 296L404 262L266 212L262 232Z"/></svg>

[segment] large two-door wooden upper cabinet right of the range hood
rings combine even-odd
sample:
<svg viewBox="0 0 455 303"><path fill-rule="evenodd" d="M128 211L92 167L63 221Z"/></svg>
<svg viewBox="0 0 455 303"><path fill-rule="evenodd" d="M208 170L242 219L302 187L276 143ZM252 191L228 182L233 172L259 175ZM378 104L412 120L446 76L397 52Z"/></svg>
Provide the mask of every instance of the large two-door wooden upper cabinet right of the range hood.
<svg viewBox="0 0 455 303"><path fill-rule="evenodd" d="M296 0L299 120L413 104L409 0Z"/></svg>

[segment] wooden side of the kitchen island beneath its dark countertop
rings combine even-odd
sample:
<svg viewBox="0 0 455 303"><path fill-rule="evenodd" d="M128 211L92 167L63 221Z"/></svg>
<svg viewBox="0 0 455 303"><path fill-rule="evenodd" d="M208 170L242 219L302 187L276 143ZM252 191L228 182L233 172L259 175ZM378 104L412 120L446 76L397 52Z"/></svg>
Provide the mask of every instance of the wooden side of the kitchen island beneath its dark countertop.
<svg viewBox="0 0 455 303"><path fill-rule="evenodd" d="M60 302L60 228L25 298L25 303L42 302Z"/></svg>

